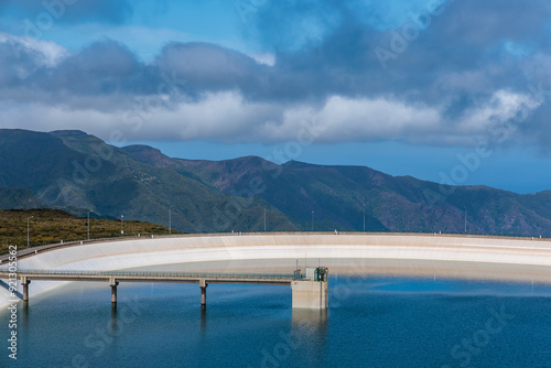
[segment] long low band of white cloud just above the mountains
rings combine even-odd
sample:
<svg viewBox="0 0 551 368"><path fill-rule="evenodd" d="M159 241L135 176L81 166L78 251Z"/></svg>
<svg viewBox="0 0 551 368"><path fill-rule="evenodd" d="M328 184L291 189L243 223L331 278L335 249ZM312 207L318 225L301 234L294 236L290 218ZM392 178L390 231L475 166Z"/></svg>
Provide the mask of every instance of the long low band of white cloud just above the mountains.
<svg viewBox="0 0 551 368"><path fill-rule="evenodd" d="M152 97L154 98L154 96ZM276 143L296 140L306 126L318 127L318 143L401 140L414 143L473 144L493 123L529 113L539 106L530 96L505 90L457 121L444 120L435 107L393 98L332 96L321 107L246 100L238 91L205 94L174 106L163 100L153 110L102 112L37 104L0 106L7 128L41 131L80 129L109 140L120 132L129 141L212 140ZM170 107L170 108L168 108ZM137 112L141 111L141 112ZM145 111L145 112L143 112Z"/></svg>

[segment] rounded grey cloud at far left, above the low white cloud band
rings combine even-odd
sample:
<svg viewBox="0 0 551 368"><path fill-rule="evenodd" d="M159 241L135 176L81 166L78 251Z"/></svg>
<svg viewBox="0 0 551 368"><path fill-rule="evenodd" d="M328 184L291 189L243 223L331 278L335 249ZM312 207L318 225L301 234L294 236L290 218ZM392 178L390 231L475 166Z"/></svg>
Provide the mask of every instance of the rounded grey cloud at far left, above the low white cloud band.
<svg viewBox="0 0 551 368"><path fill-rule="evenodd" d="M48 46L47 42L25 44L21 39L0 43L0 76L6 82L0 93L4 99L63 104L78 96L131 98L145 83L138 80L144 66L136 55L110 40L62 56L54 65L44 63Z"/></svg>

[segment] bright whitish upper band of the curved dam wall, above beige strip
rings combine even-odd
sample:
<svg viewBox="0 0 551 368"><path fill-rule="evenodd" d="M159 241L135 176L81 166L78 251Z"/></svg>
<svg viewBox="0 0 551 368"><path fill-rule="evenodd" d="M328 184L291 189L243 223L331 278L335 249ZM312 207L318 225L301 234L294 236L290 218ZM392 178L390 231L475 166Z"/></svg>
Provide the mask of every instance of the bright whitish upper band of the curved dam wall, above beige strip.
<svg viewBox="0 0 551 368"><path fill-rule="evenodd" d="M551 267L551 241L400 234L197 235L77 245L20 259L18 268L107 271L188 262L294 260L303 259L305 255L310 259L393 259ZM0 268L6 267L6 262L0 264ZM31 286L31 293L44 292L60 284L36 282ZM0 289L0 304L8 300L8 295L4 289Z"/></svg>

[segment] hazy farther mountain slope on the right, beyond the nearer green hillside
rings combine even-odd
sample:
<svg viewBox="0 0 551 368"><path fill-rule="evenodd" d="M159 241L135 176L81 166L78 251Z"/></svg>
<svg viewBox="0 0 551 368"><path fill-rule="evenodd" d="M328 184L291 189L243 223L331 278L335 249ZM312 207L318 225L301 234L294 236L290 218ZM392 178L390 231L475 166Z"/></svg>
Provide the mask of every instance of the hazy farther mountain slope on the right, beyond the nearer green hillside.
<svg viewBox="0 0 551 368"><path fill-rule="evenodd" d="M143 155L142 155L143 156ZM391 176L365 166L326 166L296 161L276 165L259 158L229 161L174 160L179 171L222 193L250 183L266 187L258 197L285 214L299 228L316 230L551 235L551 192L533 195L484 186L454 186ZM431 201L433 199L433 201Z"/></svg>

